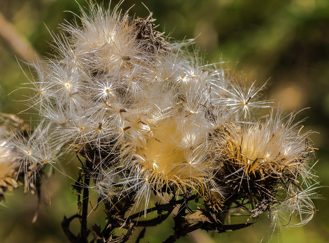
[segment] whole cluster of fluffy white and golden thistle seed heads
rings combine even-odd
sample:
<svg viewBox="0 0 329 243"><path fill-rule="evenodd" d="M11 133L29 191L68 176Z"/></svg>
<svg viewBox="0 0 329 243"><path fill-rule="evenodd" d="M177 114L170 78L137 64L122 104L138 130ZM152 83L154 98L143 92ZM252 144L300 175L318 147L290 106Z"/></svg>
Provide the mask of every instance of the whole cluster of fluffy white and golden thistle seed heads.
<svg viewBox="0 0 329 243"><path fill-rule="evenodd" d="M36 72L25 88L38 124L30 130L9 116L1 126L0 195L19 175L35 187L46 165L73 152L82 163L75 185L82 197L80 213L62 224L71 242L88 242L90 232L96 242L125 242L178 205L165 242L197 229L244 228L245 220L225 223L241 211L253 218L267 211L274 226L307 223L317 197L310 132L280 107L257 118L272 103L261 98L265 84L247 86L224 62L204 64L189 41L169 43L154 20L91 3L77 22L62 25L54 56L31 64ZM105 204L104 229L87 227L89 190ZM155 210L153 221L134 220ZM74 217L78 235L69 230ZM115 228L128 231L115 236Z"/></svg>

